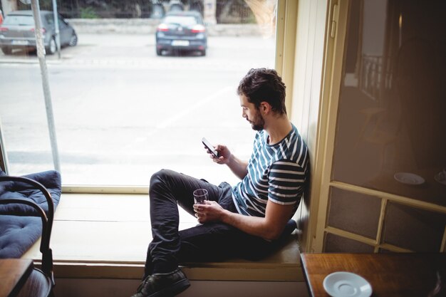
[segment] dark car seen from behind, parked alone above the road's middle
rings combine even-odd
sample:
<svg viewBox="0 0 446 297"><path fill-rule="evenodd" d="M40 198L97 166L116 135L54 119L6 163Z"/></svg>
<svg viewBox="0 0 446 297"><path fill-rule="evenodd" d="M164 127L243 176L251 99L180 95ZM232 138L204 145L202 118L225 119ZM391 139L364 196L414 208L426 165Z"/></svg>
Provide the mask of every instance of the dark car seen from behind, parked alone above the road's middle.
<svg viewBox="0 0 446 297"><path fill-rule="evenodd" d="M162 51L199 51L206 55L207 32L197 11L172 11L165 15L156 31L157 55Z"/></svg>

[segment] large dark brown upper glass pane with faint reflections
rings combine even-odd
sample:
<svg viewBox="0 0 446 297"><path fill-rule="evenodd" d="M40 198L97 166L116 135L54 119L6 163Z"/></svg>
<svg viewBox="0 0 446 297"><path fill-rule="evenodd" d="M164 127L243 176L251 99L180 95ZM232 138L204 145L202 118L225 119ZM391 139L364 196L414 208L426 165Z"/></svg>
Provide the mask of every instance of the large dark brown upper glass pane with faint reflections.
<svg viewBox="0 0 446 297"><path fill-rule="evenodd" d="M446 2L351 4L333 179L446 205Z"/></svg>

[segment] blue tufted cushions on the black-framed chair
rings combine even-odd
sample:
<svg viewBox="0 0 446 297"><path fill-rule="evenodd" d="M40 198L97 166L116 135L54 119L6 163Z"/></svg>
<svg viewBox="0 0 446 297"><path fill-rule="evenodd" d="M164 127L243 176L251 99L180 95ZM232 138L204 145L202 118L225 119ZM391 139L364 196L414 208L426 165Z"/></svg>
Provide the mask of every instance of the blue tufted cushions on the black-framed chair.
<svg viewBox="0 0 446 297"><path fill-rule="evenodd" d="M0 170L0 177L6 174ZM55 170L24 175L45 187L56 209L61 199L61 174ZM40 189L18 181L0 182L1 199L24 199L36 203L48 214L48 203ZM24 204L0 205L0 258L19 258L42 233L41 218Z"/></svg>

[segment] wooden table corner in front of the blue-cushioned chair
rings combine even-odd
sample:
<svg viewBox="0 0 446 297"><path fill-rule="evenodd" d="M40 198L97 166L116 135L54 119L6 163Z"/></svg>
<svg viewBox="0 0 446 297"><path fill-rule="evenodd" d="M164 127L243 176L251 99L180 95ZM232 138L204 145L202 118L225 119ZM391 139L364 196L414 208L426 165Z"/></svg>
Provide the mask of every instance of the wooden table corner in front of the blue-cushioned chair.
<svg viewBox="0 0 446 297"><path fill-rule="evenodd" d="M16 296L32 270L30 259L0 259L0 297Z"/></svg>

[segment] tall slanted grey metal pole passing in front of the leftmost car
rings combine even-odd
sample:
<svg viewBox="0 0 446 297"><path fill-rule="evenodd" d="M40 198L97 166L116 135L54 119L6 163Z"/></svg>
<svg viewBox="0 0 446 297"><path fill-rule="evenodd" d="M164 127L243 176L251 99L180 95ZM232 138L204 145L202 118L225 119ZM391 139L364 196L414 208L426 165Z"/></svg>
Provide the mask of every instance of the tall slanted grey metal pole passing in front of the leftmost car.
<svg viewBox="0 0 446 297"><path fill-rule="evenodd" d="M53 105L51 104L51 93L48 83L48 69L46 68L45 61L45 47L43 46L41 14L40 8L38 6L38 0L31 0L31 8L33 9L34 24L36 26L36 30L34 30L34 32L36 33L37 56L38 63L40 63L41 66L43 95L45 97L46 105L46 119L48 120L48 130L50 134L51 152L53 153L54 169L56 169L58 172L61 172L56 140L56 127L54 125Z"/></svg>

